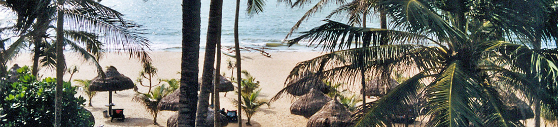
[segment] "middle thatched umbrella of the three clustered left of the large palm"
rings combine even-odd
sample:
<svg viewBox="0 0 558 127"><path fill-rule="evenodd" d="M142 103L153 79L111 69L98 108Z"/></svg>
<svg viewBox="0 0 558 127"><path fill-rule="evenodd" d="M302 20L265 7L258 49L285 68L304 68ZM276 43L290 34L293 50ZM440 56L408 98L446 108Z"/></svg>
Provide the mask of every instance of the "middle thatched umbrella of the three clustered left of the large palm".
<svg viewBox="0 0 558 127"><path fill-rule="evenodd" d="M311 89L309 93L296 100L291 105L291 114L310 117L321 109L331 98L324 93Z"/></svg>

